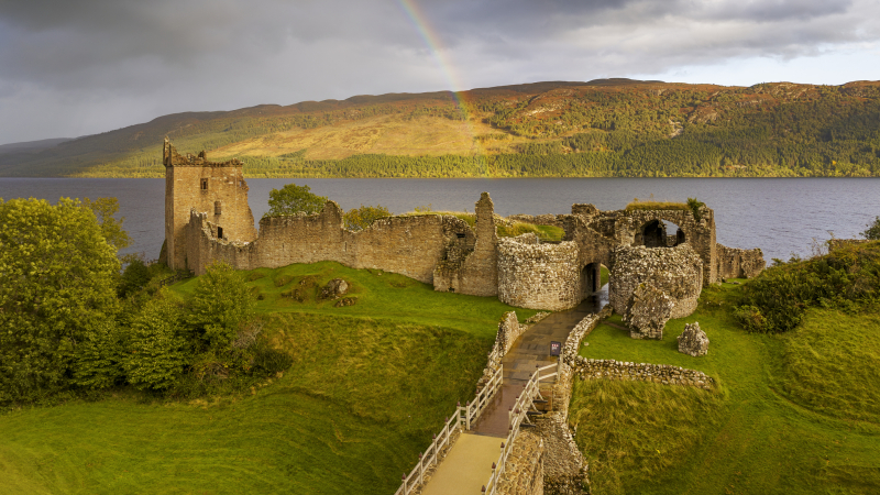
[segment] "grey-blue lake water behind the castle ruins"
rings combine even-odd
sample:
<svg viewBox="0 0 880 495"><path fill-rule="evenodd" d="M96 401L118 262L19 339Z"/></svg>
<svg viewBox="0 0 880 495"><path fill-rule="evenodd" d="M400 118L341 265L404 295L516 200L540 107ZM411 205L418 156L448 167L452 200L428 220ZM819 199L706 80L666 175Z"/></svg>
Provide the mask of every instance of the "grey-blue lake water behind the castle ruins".
<svg viewBox="0 0 880 495"><path fill-rule="evenodd" d="M760 248L769 262L810 253L812 239L855 238L880 216L880 178L521 178L521 179L248 179L254 219L268 210L268 194L306 184L343 209L383 205L395 213L431 205L435 210L474 210L488 191L495 212L570 213L590 202L624 208L634 198L683 201L695 197L715 210L717 241ZM164 240L164 179L0 178L0 198L119 198L124 227L134 239L125 252L158 256Z"/></svg>

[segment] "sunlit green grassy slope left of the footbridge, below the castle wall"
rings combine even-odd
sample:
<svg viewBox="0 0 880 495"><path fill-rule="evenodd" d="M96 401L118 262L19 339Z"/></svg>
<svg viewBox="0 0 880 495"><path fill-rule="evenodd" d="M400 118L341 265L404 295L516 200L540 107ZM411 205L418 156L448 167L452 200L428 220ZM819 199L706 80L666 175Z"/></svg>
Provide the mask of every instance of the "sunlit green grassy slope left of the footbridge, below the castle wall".
<svg viewBox="0 0 880 495"><path fill-rule="evenodd" d="M289 371L245 397L167 404L121 392L0 416L0 494L393 493L473 394L512 309L336 263L256 272L264 331L294 355ZM280 296L306 275L349 280L358 304Z"/></svg>

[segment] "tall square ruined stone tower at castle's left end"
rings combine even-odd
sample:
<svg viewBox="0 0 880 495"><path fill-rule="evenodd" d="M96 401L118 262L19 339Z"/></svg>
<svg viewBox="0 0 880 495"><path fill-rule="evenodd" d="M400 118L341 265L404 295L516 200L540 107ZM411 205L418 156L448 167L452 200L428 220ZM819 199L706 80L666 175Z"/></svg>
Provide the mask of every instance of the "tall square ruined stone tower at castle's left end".
<svg viewBox="0 0 880 495"><path fill-rule="evenodd" d="M186 226L190 210L206 212L217 226L217 238L251 242L256 239L254 216L248 205L248 183L242 163L209 162L205 152L183 156L165 138L165 249L170 268L187 266Z"/></svg>

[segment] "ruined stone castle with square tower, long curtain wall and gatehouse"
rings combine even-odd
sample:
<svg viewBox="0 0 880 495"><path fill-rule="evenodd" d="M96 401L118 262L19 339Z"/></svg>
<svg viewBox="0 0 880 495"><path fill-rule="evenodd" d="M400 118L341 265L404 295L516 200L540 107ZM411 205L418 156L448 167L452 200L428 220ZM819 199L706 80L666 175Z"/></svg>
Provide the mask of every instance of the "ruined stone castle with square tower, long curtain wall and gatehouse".
<svg viewBox="0 0 880 495"><path fill-rule="evenodd" d="M497 296L513 306L560 310L598 290L601 266L612 270L616 258L632 258L622 254L630 248L666 253L678 246L669 250L667 264L688 258L680 254L682 250L693 251L691 258L698 256L700 266L681 272L693 278L685 280L689 297L693 290L698 295L704 284L751 277L765 267L760 250L715 242L715 216L707 207L700 210L698 219L691 210L600 211L593 205L573 205L570 215L512 217L565 231L561 242L540 242L534 234L499 239L496 226L503 219L495 216L487 193L476 201L473 228L457 217L420 215L380 219L352 232L344 228L339 205L327 201L316 215L263 218L257 234L239 161L209 162L205 152L183 156L167 140L163 155L167 263L196 274L215 261L239 270L336 261L353 268L399 273L432 284L437 290ZM668 232L668 224L676 226L675 231ZM612 273L622 278L638 276Z"/></svg>

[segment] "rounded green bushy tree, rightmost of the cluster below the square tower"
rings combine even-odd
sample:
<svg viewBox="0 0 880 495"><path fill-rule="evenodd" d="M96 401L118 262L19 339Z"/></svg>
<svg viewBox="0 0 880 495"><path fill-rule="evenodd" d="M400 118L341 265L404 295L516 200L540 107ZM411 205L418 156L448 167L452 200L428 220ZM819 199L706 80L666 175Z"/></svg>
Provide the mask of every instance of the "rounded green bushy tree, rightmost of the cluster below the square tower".
<svg viewBox="0 0 880 495"><path fill-rule="evenodd" d="M215 263L199 277L186 319L204 348L229 348L253 318L256 299L244 283L241 273L227 263Z"/></svg>

